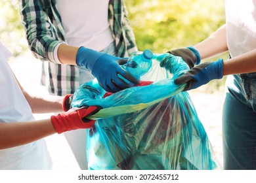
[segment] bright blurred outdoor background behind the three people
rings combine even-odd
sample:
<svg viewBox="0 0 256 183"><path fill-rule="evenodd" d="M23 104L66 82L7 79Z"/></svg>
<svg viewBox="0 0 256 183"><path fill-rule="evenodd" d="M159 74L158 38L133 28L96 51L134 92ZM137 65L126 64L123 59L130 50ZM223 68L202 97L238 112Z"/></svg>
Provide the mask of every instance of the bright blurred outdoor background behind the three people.
<svg viewBox="0 0 256 183"><path fill-rule="evenodd" d="M150 49L154 53L194 45L225 21L224 0L127 0L125 4L139 50ZM47 93L39 82L41 61L33 58L28 50L17 0L0 1L0 20L0 40L14 54L9 63L19 82L28 92ZM218 58L228 58L228 54L210 60ZM189 92L221 165L224 81L225 77ZM37 119L49 116L51 114L35 114ZM53 135L46 141L53 169L79 169L64 135Z"/></svg>

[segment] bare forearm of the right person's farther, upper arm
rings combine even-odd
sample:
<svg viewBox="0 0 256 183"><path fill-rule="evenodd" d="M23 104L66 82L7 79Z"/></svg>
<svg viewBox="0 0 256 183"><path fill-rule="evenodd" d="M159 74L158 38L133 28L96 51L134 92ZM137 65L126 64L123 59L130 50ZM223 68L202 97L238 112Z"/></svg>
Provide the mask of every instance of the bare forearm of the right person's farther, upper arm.
<svg viewBox="0 0 256 183"><path fill-rule="evenodd" d="M207 37L207 39L194 45L194 48L200 53L201 59L211 58L228 51L226 44L226 25L221 26L217 31Z"/></svg>

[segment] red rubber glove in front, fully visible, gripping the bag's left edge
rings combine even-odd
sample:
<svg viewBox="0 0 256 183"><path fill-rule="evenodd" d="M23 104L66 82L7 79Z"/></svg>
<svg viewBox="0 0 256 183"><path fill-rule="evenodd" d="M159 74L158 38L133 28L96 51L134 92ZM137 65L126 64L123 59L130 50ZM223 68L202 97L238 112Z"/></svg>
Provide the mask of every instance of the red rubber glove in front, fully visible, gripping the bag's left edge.
<svg viewBox="0 0 256 183"><path fill-rule="evenodd" d="M95 120L89 120L86 116L91 116L98 112L102 107L90 106L88 108L79 108L74 111L60 113L57 116L51 116L54 129L57 133L63 133L74 129L91 128Z"/></svg>

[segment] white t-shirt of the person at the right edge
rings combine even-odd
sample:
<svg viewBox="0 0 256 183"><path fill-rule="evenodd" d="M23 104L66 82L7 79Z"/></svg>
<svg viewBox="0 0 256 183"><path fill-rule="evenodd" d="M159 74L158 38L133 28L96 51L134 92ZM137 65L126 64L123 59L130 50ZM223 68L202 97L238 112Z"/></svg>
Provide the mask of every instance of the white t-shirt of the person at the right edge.
<svg viewBox="0 0 256 183"><path fill-rule="evenodd" d="M232 57L256 48L256 1L226 0L228 50Z"/></svg>

